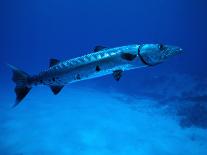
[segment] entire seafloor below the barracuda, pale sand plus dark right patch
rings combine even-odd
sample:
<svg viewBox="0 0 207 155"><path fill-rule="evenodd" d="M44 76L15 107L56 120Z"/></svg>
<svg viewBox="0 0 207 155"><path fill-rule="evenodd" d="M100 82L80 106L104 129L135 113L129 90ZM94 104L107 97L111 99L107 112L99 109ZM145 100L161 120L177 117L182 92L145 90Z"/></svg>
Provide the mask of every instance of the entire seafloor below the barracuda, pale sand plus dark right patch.
<svg viewBox="0 0 207 155"><path fill-rule="evenodd" d="M136 95L68 86L53 96L39 87L14 109L14 94L6 95L12 90L6 89L0 154L205 155L207 83L202 81L175 75Z"/></svg>

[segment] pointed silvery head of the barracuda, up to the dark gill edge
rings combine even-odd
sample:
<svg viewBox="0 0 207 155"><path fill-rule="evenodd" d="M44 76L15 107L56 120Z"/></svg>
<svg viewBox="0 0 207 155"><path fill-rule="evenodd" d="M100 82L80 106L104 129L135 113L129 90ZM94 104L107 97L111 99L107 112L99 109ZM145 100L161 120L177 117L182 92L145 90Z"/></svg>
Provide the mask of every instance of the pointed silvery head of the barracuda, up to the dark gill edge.
<svg viewBox="0 0 207 155"><path fill-rule="evenodd" d="M166 59L183 53L177 46L163 44L143 44L139 47L139 56L142 61L150 66L164 62Z"/></svg>

